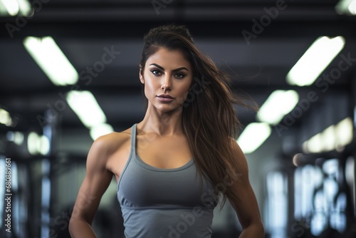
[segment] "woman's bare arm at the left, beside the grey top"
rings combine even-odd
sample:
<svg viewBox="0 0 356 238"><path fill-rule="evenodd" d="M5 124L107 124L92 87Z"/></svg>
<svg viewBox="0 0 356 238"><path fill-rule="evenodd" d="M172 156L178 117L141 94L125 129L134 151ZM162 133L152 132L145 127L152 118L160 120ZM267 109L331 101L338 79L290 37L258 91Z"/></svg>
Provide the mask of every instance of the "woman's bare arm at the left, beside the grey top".
<svg viewBox="0 0 356 238"><path fill-rule="evenodd" d="M110 143L105 143L104 137L95 140L88 153L85 177L69 222L69 232L73 238L96 237L91 224L101 197L112 180L112 172L107 169Z"/></svg>

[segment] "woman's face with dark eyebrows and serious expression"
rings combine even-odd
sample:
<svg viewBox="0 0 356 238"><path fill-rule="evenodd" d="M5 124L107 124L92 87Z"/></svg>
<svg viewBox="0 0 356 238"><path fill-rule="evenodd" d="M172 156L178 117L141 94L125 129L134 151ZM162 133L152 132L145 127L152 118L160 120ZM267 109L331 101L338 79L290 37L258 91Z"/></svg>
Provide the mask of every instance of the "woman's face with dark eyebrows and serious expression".
<svg viewBox="0 0 356 238"><path fill-rule="evenodd" d="M176 110L186 100L192 85L192 66L181 51L159 48L147 59L140 81L145 84L149 106L162 112Z"/></svg>

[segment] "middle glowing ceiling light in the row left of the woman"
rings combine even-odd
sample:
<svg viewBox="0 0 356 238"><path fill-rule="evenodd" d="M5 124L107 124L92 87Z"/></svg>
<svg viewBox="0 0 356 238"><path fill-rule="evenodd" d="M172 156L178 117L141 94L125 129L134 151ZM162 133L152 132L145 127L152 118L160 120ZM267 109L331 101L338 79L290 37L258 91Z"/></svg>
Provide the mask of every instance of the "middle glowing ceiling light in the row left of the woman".
<svg viewBox="0 0 356 238"><path fill-rule="evenodd" d="M103 110L90 91L71 90L66 98L70 108L87 128L106 122Z"/></svg>

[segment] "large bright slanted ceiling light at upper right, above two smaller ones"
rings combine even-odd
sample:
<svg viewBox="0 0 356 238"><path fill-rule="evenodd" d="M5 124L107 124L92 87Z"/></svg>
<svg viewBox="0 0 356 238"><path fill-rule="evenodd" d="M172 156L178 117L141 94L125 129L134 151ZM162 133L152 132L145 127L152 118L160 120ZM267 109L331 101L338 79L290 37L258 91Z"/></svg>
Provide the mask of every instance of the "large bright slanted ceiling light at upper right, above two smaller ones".
<svg viewBox="0 0 356 238"><path fill-rule="evenodd" d="M309 86L345 46L342 36L321 36L312 43L295 66L287 74L287 82L296 86Z"/></svg>

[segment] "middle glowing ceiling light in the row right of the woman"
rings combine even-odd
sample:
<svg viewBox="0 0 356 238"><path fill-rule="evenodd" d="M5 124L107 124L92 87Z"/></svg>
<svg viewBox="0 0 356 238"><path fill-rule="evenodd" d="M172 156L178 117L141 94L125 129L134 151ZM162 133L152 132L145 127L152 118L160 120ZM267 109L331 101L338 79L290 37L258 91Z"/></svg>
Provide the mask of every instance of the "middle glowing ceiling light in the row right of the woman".
<svg viewBox="0 0 356 238"><path fill-rule="evenodd" d="M290 113L299 100L295 90L275 90L261 106L257 120L271 125L277 125L283 117Z"/></svg>

